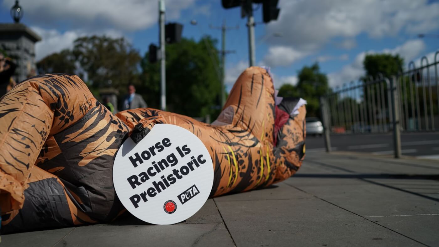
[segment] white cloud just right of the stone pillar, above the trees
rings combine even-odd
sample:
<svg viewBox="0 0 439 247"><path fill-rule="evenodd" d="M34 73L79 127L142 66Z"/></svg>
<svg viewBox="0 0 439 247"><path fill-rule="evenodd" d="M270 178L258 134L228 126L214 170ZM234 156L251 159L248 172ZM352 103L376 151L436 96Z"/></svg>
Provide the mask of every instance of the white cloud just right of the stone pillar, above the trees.
<svg viewBox="0 0 439 247"><path fill-rule="evenodd" d="M71 49L73 41L81 36L89 36L92 34L103 35L109 37L121 37L122 33L115 30L102 30L100 32L86 32L82 30L70 30L66 32L58 32L55 29L42 29L40 27L32 27L42 40L35 45L36 61L46 57L49 54L59 52L64 49Z"/></svg>

